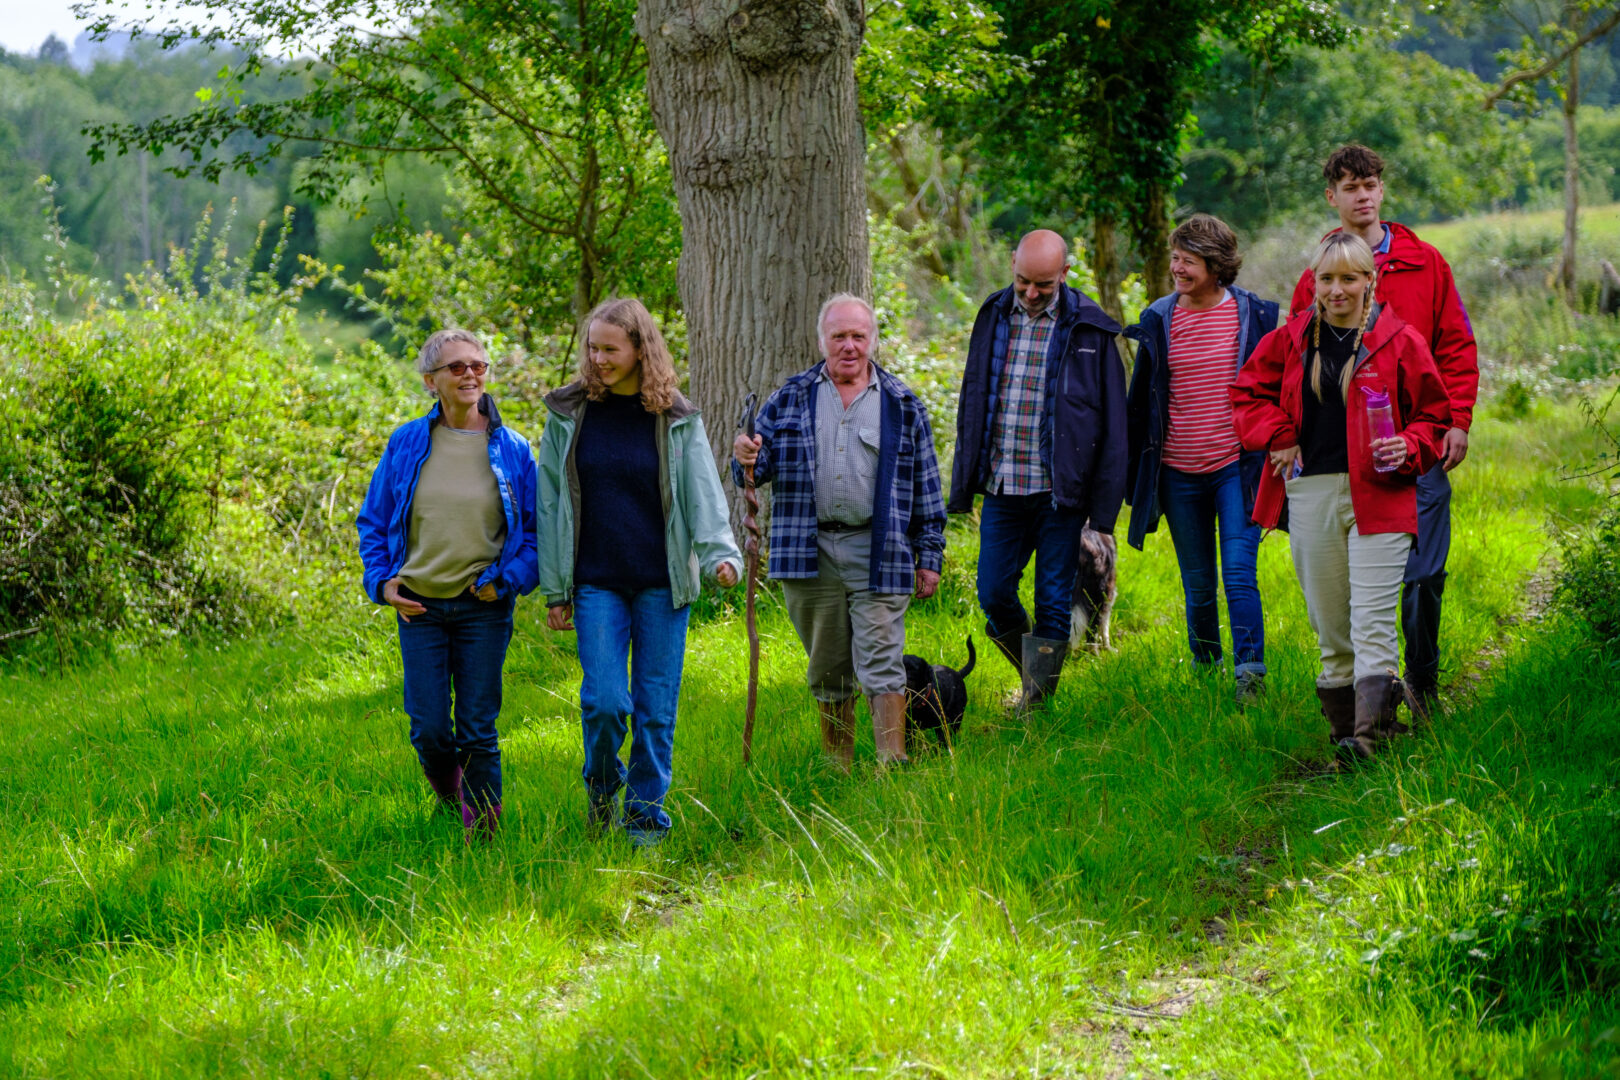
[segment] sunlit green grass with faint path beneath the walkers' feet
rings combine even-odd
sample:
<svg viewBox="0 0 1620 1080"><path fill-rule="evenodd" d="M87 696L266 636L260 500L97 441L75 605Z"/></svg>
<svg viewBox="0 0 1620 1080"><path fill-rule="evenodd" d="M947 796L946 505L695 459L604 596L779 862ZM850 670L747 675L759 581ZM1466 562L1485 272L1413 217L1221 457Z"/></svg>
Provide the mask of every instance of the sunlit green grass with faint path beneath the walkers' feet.
<svg viewBox="0 0 1620 1080"><path fill-rule="evenodd" d="M888 779L816 763L779 612L744 772L740 627L701 622L651 857L586 839L572 638L535 606L488 850L429 816L374 614L0 670L0 1075L1609 1075L1617 672L1513 622L1594 500L1555 479L1581 445L1573 410L1476 427L1447 641L1489 669L1353 777L1314 767L1283 538L1264 706L1189 670L1158 536L1118 654L1021 725L982 649L954 756ZM978 635L970 565L953 534L914 651Z"/></svg>

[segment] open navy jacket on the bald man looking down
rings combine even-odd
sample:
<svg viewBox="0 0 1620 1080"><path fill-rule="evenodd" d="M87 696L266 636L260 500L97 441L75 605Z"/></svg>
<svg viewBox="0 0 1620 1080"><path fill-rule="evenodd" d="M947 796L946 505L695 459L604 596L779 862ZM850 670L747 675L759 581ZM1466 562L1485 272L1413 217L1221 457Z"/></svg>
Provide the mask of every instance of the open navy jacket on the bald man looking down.
<svg viewBox="0 0 1620 1080"><path fill-rule="evenodd" d="M956 405L956 458L949 513L969 513L990 483L990 418L1006 364L1017 293L993 293L974 319L967 369ZM1119 324L1089 296L1058 287L1058 325L1047 348L1047 408L1040 418L1040 460L1051 478L1051 502L1081 510L1098 533L1113 533L1124 500L1124 364Z"/></svg>

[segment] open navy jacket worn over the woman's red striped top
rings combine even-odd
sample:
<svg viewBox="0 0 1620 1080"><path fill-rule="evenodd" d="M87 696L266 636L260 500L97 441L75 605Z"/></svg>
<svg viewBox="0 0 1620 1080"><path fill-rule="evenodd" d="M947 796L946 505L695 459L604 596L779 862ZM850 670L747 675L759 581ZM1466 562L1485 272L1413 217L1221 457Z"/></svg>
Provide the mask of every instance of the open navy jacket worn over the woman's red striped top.
<svg viewBox="0 0 1620 1080"><path fill-rule="evenodd" d="M1246 288L1228 285L1238 300L1238 366L1231 377L1254 353L1260 338L1277 329L1277 304L1260 300ZM1163 460L1165 429L1170 427L1170 314L1176 306L1176 293L1160 296L1142 313L1142 319L1126 329L1124 335L1137 343L1136 368L1131 372L1131 395L1126 400L1126 416L1131 432L1129 495L1131 525L1126 541L1137 551L1149 533L1158 531L1158 468ZM1246 452L1239 458L1243 471L1243 508L1254 513L1254 495L1260 489L1265 470L1265 452Z"/></svg>

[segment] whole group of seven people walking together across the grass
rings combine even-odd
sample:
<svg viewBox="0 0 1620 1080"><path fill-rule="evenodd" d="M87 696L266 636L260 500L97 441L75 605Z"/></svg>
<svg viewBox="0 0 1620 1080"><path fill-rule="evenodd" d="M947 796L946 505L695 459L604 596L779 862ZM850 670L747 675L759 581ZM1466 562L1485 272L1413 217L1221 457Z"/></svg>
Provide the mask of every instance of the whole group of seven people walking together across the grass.
<svg viewBox="0 0 1620 1080"><path fill-rule="evenodd" d="M1192 661L1209 669L1223 665L1221 583L1239 706L1265 685L1256 563L1272 528L1288 529L1340 759L1405 729L1401 696L1419 712L1434 701L1447 473L1468 453L1479 372L1445 259L1382 220L1382 173L1362 146L1328 159L1340 228L1286 317L1236 285L1236 236L1204 214L1171 235L1174 291L1124 330L1066 283L1059 235L1024 236L969 338L949 500L927 410L875 359L872 306L847 293L821 306L821 359L770 395L731 466L773 492L768 570L836 767L854 759L857 693L878 763L907 761L906 612L940 585L946 513L975 497L978 604L1019 708L1058 688L1082 529L1111 534L1124 502L1136 547L1166 521ZM536 463L484 392L478 338L434 334L416 368L437 402L394 432L358 518L366 594L399 615L411 745L470 837L499 826L518 594L539 588L548 627L578 635L588 821L645 845L671 826L690 604L705 578L742 573L703 419L646 308L608 301L582 337L578 377L546 398ZM1019 599L1032 559L1034 612Z"/></svg>

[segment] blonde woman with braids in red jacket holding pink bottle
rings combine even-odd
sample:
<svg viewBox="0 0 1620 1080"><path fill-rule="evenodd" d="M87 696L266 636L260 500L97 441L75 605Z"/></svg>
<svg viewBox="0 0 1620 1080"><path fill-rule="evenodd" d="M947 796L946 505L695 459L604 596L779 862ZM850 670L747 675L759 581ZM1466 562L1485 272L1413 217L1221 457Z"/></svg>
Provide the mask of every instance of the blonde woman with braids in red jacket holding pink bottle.
<svg viewBox="0 0 1620 1080"><path fill-rule="evenodd" d="M1400 725L1395 623L1418 534L1418 476L1440 457L1452 410L1429 345L1374 300L1372 249L1333 233L1311 261L1315 306L1260 340L1231 389L1246 450L1267 450L1254 520L1288 504L1294 573L1322 648L1317 696L1345 761ZM1377 431L1369 406L1385 402Z"/></svg>

